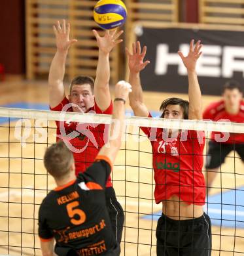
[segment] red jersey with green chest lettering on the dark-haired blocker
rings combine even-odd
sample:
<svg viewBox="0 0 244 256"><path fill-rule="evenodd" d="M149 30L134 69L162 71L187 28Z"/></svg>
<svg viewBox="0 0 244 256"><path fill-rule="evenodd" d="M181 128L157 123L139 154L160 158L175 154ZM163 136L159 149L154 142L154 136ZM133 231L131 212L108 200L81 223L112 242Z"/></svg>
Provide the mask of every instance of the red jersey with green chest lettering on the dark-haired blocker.
<svg viewBox="0 0 244 256"><path fill-rule="evenodd" d="M174 138L167 138L165 129L141 129L152 144L156 203L176 195L188 204L204 205L206 187L201 171L204 133L182 131Z"/></svg>

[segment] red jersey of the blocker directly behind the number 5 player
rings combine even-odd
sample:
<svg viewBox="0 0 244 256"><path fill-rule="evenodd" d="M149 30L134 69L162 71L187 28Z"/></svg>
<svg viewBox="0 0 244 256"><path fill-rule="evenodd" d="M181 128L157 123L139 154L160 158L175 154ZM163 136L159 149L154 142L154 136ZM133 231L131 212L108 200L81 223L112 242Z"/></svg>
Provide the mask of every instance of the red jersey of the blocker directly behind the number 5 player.
<svg viewBox="0 0 244 256"><path fill-rule="evenodd" d="M61 111L65 105L69 103L69 100L65 97L58 106L50 109L53 111ZM65 111L73 112L73 109L68 108ZM97 106L95 100L94 106L87 110L86 113L112 114L112 101L109 108L102 111L99 106ZM101 147L107 142L107 129L109 126L96 123L67 123L63 121L56 121L56 125L57 140L65 140L67 146L73 152L75 160L75 174L78 175L80 172L84 173L84 171L86 171L86 169L94 162ZM112 186L112 179L109 175L106 187L110 186Z"/></svg>

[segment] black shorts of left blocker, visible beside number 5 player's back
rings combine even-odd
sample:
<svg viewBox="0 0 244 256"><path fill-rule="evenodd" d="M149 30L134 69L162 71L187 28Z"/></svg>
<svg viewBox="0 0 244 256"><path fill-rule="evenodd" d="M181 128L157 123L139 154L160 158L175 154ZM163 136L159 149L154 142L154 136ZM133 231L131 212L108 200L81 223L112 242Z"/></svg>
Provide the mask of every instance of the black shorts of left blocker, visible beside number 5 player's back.
<svg viewBox="0 0 244 256"><path fill-rule="evenodd" d="M120 244L124 226L124 211L116 199L113 187L105 189L105 197L113 232L118 244Z"/></svg>

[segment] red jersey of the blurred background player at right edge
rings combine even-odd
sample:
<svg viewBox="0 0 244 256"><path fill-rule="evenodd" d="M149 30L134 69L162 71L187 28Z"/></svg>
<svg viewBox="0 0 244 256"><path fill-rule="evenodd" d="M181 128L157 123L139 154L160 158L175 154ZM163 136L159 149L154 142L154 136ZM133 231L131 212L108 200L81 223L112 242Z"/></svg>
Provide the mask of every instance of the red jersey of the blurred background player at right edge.
<svg viewBox="0 0 244 256"><path fill-rule="evenodd" d="M239 113L236 115L228 114L225 110L224 100L213 102L203 112L203 119L211 119L218 121L220 119L230 120L235 123L244 123L244 101L241 100ZM224 120L223 120L224 121ZM224 134L213 131L211 133L211 140L217 141L217 138L223 138ZM219 141L217 141L219 142ZM230 133L230 137L223 143L244 143L244 133Z"/></svg>

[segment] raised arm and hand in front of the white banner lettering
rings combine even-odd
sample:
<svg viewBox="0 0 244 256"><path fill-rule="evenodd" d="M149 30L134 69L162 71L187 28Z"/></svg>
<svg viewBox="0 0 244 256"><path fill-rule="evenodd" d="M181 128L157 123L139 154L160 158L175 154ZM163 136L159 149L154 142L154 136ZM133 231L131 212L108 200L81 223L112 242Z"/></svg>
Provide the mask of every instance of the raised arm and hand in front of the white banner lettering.
<svg viewBox="0 0 244 256"><path fill-rule="evenodd" d="M196 62L201 56L200 50L202 45L200 43L201 41L198 41L194 47L194 40L190 41L190 51L186 57L183 56L181 51L178 52L188 74L189 119L198 120L203 118L201 89L198 83L198 76L196 74Z"/></svg>

